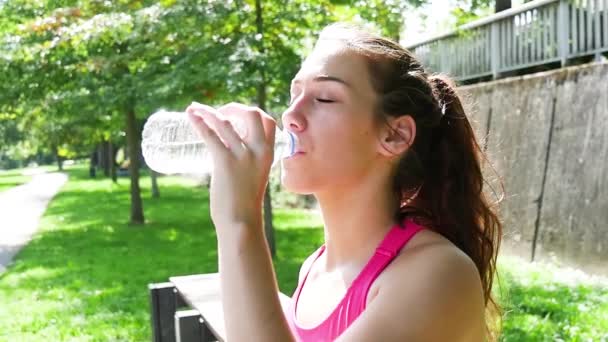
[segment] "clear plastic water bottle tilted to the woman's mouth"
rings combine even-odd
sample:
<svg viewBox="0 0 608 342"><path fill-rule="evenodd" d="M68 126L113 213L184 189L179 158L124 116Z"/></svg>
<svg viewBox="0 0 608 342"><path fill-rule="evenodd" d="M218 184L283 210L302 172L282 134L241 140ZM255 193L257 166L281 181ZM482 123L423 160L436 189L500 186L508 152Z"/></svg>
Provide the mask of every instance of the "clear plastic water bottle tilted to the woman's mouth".
<svg viewBox="0 0 608 342"><path fill-rule="evenodd" d="M244 136L243 123L231 121L237 133ZM272 165L292 156L296 143L293 133L277 127ZM144 125L141 148L146 164L159 173L204 175L213 170L211 153L185 112L160 110L152 114Z"/></svg>

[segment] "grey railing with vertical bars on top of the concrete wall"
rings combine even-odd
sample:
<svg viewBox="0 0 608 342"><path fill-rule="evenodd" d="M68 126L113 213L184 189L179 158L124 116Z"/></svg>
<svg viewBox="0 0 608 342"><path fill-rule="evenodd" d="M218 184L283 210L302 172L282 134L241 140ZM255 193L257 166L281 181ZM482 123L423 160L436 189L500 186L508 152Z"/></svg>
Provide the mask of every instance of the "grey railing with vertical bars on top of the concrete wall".
<svg viewBox="0 0 608 342"><path fill-rule="evenodd" d="M608 51L608 0L536 0L408 46L433 72L470 80Z"/></svg>

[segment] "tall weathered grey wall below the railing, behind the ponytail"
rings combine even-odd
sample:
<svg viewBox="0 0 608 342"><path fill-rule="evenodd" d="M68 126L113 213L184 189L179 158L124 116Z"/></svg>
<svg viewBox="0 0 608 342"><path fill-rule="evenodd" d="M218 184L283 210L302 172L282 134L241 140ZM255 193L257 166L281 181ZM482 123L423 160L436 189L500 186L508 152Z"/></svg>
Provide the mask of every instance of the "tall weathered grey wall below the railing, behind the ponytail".
<svg viewBox="0 0 608 342"><path fill-rule="evenodd" d="M459 92L505 187L504 250L608 274L608 63Z"/></svg>

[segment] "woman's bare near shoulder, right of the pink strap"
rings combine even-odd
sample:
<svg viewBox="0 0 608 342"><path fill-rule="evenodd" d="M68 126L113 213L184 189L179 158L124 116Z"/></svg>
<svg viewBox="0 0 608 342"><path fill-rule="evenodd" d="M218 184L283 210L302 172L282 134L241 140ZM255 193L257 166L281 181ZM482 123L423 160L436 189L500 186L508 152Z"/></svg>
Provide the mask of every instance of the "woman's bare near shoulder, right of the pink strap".
<svg viewBox="0 0 608 342"><path fill-rule="evenodd" d="M384 312L384 328L399 336L429 341L482 339L485 303L477 267L440 234L430 230L416 234L374 288L368 315Z"/></svg>

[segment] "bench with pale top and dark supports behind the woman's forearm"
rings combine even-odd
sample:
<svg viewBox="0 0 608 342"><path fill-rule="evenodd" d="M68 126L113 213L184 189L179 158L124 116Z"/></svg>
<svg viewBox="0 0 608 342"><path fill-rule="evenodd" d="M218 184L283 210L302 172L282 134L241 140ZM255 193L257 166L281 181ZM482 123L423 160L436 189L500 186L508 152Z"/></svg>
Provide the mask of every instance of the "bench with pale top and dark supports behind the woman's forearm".
<svg viewBox="0 0 608 342"><path fill-rule="evenodd" d="M226 340L218 273L171 277L148 289L154 342ZM291 301L280 292L279 298L283 307Z"/></svg>

